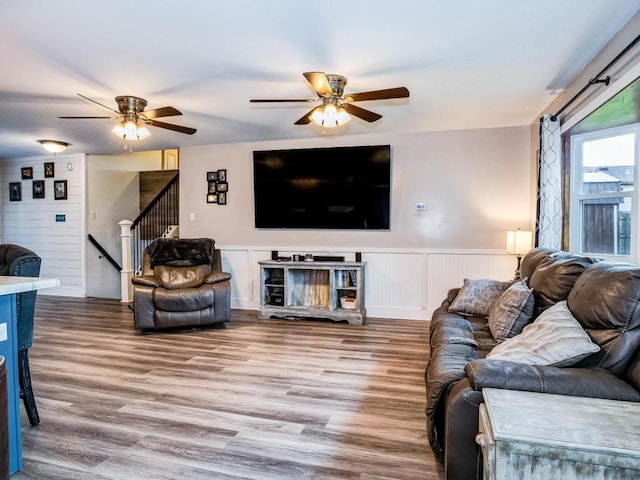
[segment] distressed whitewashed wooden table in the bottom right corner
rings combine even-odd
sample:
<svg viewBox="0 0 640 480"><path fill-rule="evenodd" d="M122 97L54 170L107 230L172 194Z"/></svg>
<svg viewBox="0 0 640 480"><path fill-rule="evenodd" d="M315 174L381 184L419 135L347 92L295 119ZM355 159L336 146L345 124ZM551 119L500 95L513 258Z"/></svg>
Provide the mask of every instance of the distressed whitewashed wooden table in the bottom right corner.
<svg viewBox="0 0 640 480"><path fill-rule="evenodd" d="M640 478L640 403L485 388L489 480Z"/></svg>

